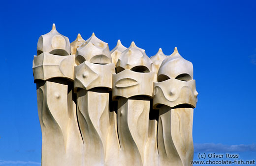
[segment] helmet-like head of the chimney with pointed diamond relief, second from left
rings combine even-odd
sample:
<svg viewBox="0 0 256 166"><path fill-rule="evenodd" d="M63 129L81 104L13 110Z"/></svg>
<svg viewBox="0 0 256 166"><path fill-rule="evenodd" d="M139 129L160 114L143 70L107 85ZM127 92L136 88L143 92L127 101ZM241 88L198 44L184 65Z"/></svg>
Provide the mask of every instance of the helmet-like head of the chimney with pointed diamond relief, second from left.
<svg viewBox="0 0 256 166"><path fill-rule="evenodd" d="M96 38L94 33L84 44L77 47L74 73L75 91L77 88L112 89L112 73L115 73L115 64L111 63L108 44Z"/></svg>

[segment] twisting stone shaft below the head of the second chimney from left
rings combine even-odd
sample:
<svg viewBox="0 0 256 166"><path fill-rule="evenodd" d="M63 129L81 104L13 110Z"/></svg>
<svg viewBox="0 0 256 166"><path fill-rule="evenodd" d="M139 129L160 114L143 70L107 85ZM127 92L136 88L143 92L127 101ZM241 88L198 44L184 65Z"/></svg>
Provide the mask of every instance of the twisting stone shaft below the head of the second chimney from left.
<svg viewBox="0 0 256 166"><path fill-rule="evenodd" d="M85 166L104 165L109 133L109 93L80 90L77 114L84 140Z"/></svg>

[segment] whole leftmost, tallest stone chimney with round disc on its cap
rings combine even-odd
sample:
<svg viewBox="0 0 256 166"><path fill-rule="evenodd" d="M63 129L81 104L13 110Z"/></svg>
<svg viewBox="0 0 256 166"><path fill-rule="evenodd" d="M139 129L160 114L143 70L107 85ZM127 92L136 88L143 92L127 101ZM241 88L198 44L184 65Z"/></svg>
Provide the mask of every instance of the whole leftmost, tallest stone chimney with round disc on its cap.
<svg viewBox="0 0 256 166"><path fill-rule="evenodd" d="M55 24L37 43L33 75L42 130L42 166L82 165L83 142L73 93L75 55L70 52L68 38Z"/></svg>

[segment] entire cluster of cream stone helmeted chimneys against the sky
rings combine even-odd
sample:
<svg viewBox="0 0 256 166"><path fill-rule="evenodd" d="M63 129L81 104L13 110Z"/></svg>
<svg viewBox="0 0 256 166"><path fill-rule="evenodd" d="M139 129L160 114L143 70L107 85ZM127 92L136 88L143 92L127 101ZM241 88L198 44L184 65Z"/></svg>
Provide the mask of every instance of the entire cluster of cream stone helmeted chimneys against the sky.
<svg viewBox="0 0 256 166"><path fill-rule="evenodd" d="M189 166L198 93L175 47L149 58L53 24L33 59L43 166Z"/></svg>

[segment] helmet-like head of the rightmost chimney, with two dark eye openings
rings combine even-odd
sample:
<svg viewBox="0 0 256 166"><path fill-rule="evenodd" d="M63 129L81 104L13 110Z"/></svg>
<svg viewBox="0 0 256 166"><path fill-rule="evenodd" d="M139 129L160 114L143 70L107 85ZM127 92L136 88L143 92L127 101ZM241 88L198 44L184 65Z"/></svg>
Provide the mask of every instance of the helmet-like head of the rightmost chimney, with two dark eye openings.
<svg viewBox="0 0 256 166"><path fill-rule="evenodd" d="M169 107L195 108L197 102L195 80L193 80L192 63L180 56L175 47L174 52L163 60L154 82L153 107L159 104Z"/></svg>

